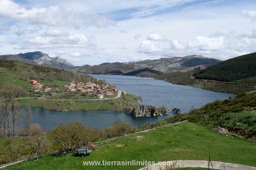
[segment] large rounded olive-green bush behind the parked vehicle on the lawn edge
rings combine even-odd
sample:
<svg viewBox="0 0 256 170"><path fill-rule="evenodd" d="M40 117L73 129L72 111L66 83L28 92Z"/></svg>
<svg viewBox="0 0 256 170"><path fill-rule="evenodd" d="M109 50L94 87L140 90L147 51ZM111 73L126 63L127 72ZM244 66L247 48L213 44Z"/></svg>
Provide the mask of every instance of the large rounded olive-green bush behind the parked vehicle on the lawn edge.
<svg viewBox="0 0 256 170"><path fill-rule="evenodd" d="M53 142L56 149L65 152L83 146L90 141L88 129L80 122L60 124L53 131L47 133L47 137Z"/></svg>

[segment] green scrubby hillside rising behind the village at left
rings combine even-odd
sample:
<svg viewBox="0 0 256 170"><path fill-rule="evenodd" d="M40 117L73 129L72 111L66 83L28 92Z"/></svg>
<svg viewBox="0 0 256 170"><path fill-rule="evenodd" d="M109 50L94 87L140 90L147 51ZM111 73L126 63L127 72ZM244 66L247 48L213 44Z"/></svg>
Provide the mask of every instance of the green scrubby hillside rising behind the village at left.
<svg viewBox="0 0 256 170"><path fill-rule="evenodd" d="M33 97L36 95L33 94L29 86L31 79L36 79L40 83L45 84L45 86L55 86L60 90L70 81L95 82L97 84L105 83L91 76L77 74L66 71L65 69L1 59L0 63L0 88L3 85L20 87L22 88L22 92L19 94L21 97Z"/></svg>

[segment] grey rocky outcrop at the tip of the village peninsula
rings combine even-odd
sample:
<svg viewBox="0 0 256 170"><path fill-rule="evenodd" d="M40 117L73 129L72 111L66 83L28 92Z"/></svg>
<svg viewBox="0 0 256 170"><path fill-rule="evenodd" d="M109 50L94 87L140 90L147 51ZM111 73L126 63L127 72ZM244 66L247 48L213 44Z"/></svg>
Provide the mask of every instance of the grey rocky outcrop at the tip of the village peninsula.
<svg viewBox="0 0 256 170"><path fill-rule="evenodd" d="M150 105L141 104L134 108L125 108L125 112L134 117L154 117L168 114L169 111L166 107L155 107Z"/></svg>

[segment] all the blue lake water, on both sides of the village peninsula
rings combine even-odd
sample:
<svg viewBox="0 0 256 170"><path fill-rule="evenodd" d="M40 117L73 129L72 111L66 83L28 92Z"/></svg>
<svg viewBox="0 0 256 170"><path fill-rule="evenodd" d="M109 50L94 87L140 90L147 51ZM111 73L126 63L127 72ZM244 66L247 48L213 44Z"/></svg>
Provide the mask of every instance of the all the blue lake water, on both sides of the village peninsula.
<svg viewBox="0 0 256 170"><path fill-rule="evenodd" d="M169 109L180 108L188 112L193 106L200 108L206 103L216 99L234 97L232 94L205 91L200 88L180 86L152 78L132 76L92 75L95 78L105 79L110 84L115 84L121 91L141 96L144 104L165 106ZM87 127L104 128L111 126L115 121L129 122L133 126L156 122L160 119L173 116L168 114L159 117L132 117L122 112L113 111L70 111L58 112L41 108L32 108L33 122L49 131L60 123L80 121Z"/></svg>

